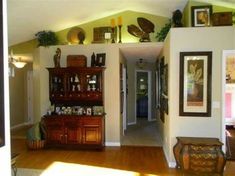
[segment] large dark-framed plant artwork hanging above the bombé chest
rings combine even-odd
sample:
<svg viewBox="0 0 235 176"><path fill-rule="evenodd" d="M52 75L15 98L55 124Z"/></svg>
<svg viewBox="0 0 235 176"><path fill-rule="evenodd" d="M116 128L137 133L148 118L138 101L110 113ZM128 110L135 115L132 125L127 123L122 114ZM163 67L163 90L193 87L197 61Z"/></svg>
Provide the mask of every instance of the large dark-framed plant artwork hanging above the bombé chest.
<svg viewBox="0 0 235 176"><path fill-rule="evenodd" d="M212 52L180 52L180 116L211 116Z"/></svg>

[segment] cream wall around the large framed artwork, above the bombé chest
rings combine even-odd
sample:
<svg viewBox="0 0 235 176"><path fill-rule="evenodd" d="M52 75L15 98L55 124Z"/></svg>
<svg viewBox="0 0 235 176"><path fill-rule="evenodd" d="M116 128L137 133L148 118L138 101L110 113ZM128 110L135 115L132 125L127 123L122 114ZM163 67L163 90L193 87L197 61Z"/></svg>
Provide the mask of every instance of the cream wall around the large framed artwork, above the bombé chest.
<svg viewBox="0 0 235 176"><path fill-rule="evenodd" d="M179 116L179 53L184 51L212 51L212 105L221 103L222 51L235 47L233 27L172 28L169 54L169 140L164 150L169 165L174 163L173 146L177 136L216 137L222 140L221 108L212 106L211 117ZM166 145L167 144L167 145Z"/></svg>

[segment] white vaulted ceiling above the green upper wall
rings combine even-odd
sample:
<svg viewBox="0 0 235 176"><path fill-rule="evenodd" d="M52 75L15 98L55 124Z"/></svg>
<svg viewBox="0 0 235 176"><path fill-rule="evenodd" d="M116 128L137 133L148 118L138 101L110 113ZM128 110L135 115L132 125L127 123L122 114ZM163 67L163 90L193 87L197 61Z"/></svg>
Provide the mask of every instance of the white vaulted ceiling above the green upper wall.
<svg viewBox="0 0 235 176"><path fill-rule="evenodd" d="M59 31L125 10L171 17L174 10L183 10L187 1L7 0L9 46L31 40L41 30ZM235 0L207 1L235 8Z"/></svg>

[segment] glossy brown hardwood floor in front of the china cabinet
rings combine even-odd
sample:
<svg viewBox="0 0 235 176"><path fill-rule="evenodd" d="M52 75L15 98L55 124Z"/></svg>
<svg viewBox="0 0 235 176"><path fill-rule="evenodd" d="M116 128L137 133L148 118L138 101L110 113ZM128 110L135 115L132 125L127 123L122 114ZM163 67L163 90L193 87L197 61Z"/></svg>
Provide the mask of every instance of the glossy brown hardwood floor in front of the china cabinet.
<svg viewBox="0 0 235 176"><path fill-rule="evenodd" d="M168 168L161 147L106 147L103 151L59 149L32 151L27 150L25 139L13 139L12 152L19 153L16 162L18 168L47 169L58 161L134 171L138 176L183 175L180 170ZM235 162L227 162L224 175L232 176L234 173Z"/></svg>

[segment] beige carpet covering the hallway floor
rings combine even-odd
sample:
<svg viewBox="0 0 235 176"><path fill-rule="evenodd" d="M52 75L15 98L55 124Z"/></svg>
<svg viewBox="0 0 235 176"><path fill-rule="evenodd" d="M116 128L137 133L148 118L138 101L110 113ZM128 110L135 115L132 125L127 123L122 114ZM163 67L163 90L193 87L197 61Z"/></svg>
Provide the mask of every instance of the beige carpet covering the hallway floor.
<svg viewBox="0 0 235 176"><path fill-rule="evenodd" d="M157 122L149 122L145 118L138 118L136 125L129 125L122 137L122 145L134 146L162 146Z"/></svg>

